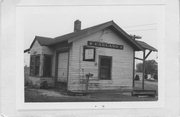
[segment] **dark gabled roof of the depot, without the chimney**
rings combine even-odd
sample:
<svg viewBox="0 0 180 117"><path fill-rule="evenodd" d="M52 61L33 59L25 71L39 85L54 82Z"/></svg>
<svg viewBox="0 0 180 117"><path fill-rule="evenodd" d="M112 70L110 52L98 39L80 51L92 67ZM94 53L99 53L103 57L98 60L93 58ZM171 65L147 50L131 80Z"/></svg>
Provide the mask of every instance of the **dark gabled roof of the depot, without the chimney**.
<svg viewBox="0 0 180 117"><path fill-rule="evenodd" d="M74 39L79 39L79 38L91 35L93 33L100 31L100 30L103 30L105 28L111 28L112 30L114 30L119 36L123 37L122 39L124 39L124 41L126 41L130 45L132 45L132 47L136 51L143 50L143 48L142 48L143 45L148 45L148 44L142 44L141 42L137 43L137 41L132 39L132 37L129 34L127 34L123 29L121 29L116 23L114 23L114 21L109 21L109 22L105 22L105 23L102 23L102 24L99 24L96 26L92 26L89 28L82 29L82 30L77 31L77 32L72 32L72 33L62 35L62 36L58 36L55 38L36 36L33 43L30 46L30 49L36 40L39 42L39 44L41 46L52 46L54 44L57 44L57 43L60 43L63 41L72 42ZM149 47L149 45L148 45L148 47Z"/></svg>

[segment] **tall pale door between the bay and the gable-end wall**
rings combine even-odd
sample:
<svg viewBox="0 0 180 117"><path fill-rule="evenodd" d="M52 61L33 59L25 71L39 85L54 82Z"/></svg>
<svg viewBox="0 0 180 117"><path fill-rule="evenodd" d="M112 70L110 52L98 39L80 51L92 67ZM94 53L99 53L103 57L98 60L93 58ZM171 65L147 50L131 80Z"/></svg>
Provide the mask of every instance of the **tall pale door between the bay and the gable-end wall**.
<svg viewBox="0 0 180 117"><path fill-rule="evenodd" d="M68 52L58 54L57 81L67 83Z"/></svg>

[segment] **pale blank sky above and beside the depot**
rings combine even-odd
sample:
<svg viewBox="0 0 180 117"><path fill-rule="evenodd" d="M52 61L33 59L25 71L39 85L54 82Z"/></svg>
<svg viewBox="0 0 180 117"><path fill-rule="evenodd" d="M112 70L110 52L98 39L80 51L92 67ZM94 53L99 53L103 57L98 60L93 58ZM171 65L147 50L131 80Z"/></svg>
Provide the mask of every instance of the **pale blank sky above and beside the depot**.
<svg viewBox="0 0 180 117"><path fill-rule="evenodd" d="M48 6L19 7L23 26L24 49L28 49L34 37L57 37L73 32L74 21L81 21L82 29L113 20L128 34L141 36L144 41L158 49L161 8L157 6ZM141 53L136 53L142 57ZM148 59L157 59L152 53ZM24 63L29 65L25 54Z"/></svg>

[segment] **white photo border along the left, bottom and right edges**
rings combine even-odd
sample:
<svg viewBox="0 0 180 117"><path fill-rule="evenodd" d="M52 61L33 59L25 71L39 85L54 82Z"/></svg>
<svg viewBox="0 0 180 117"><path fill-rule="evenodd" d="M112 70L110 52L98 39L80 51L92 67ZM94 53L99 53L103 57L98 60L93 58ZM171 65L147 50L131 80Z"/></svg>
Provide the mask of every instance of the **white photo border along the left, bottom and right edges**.
<svg viewBox="0 0 180 117"><path fill-rule="evenodd" d="M47 5L47 4L46 4ZM122 4L123 5L123 4ZM133 5L133 4L132 4ZM134 102L51 102L51 103L25 103L24 102L24 55L23 55L23 20L20 18L22 14L19 13L16 7L16 106L18 110L54 110L54 109L119 109L119 108L160 108L164 106L164 35L165 35L165 22L159 22L158 25L158 101L134 101ZM25 7L28 7L25 5ZM41 5L39 6L41 7ZM53 7L53 5L52 5ZM159 5L163 10L162 17L165 15L165 6ZM165 18L165 17L164 17ZM78 106L77 106L78 104Z"/></svg>

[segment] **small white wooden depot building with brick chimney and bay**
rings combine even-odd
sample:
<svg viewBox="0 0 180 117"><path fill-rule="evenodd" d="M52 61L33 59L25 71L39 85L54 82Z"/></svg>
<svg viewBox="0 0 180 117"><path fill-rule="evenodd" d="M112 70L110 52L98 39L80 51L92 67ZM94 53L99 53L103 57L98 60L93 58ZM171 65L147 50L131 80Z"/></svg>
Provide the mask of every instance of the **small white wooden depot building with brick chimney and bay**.
<svg viewBox="0 0 180 117"><path fill-rule="evenodd" d="M68 91L132 89L135 51L152 46L136 41L116 23L81 29L55 38L36 36L29 49L30 76L34 86L63 85Z"/></svg>

